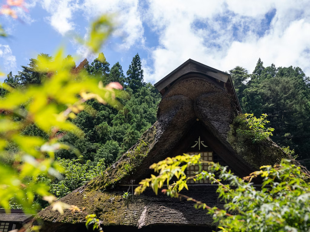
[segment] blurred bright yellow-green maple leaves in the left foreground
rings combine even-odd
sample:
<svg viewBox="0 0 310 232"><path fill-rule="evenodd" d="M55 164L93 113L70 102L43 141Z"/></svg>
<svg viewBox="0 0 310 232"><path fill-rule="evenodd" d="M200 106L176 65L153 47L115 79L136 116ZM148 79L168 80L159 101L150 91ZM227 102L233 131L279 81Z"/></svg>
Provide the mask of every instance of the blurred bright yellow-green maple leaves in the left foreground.
<svg viewBox="0 0 310 232"><path fill-rule="evenodd" d="M95 24L110 27L102 17ZM89 43L95 50L95 45L100 45L98 39L107 36L108 31L99 31L98 37L95 31L92 33L96 41L90 40ZM85 70L72 72L73 64L71 59L64 58L60 49L53 59L39 55L31 63L36 73L44 74L44 78L36 79L39 85L12 88L10 84L2 84L9 93L0 102L0 159L13 162L13 165L0 163L0 205L4 208L9 208L12 197L27 209L31 208L35 195L50 195L47 183L38 182L38 178L40 175L62 178L59 172L63 169L55 160L56 150L71 149L78 154L75 148L59 142L59 139L66 131L78 137L84 134L68 119L76 118L76 114L85 108L85 101L96 99L118 107L115 97L119 94L113 88L122 88L120 84L111 83L104 87L100 80L89 78ZM23 134L29 125L35 125L48 138ZM12 144L13 152L10 149Z"/></svg>

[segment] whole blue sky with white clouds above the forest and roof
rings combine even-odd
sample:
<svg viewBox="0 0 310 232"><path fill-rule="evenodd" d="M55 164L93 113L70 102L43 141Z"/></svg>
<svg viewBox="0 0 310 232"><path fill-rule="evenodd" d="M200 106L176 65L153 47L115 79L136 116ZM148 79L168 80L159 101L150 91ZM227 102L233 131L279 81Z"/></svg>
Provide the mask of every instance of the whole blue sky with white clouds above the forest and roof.
<svg viewBox="0 0 310 232"><path fill-rule="evenodd" d="M2 1L4 4L6 1ZM92 20L113 13L117 25L102 47L107 61L126 72L138 52L144 80L155 83L189 58L228 71L239 65L251 73L264 66L299 66L310 75L308 0L25 0L19 19L1 16L8 34L0 38L0 70L17 74L38 53L95 55L72 35L85 37Z"/></svg>

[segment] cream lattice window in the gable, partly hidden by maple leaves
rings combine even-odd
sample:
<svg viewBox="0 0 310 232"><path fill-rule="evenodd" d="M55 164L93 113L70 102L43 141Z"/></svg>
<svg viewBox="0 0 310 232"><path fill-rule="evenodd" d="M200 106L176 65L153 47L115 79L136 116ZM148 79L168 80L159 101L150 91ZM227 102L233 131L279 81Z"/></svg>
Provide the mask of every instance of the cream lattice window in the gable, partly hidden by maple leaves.
<svg viewBox="0 0 310 232"><path fill-rule="evenodd" d="M190 155L198 155L200 153L201 159L205 160L205 161L213 161L213 152L212 151L205 151L205 152L188 152L188 154ZM203 171L208 171L208 164L202 164L202 170ZM199 165L194 165L194 166L190 166L186 169L186 175L189 176L194 176L197 174L197 172L199 171ZM210 180L189 180L190 184L198 184L198 183L202 183L202 184L207 184L207 183L211 183Z"/></svg>

